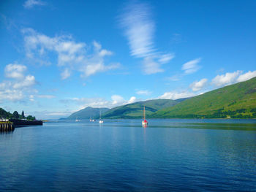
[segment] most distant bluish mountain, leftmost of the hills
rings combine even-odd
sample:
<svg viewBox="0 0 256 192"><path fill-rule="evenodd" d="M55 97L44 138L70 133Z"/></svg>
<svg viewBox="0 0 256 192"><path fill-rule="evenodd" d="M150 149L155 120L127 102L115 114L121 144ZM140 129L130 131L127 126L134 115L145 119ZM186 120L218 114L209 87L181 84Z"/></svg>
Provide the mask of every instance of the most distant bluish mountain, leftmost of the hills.
<svg viewBox="0 0 256 192"><path fill-rule="evenodd" d="M68 118L65 119L89 119L89 118L99 118L99 111L101 113L107 112L108 108L94 108L94 107L86 107L83 110L72 113Z"/></svg>

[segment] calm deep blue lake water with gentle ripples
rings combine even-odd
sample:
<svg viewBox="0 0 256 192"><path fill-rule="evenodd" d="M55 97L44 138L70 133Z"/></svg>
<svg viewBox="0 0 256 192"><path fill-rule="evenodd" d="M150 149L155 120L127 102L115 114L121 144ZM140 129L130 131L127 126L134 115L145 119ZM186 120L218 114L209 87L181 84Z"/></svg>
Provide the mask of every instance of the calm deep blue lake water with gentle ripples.
<svg viewBox="0 0 256 192"><path fill-rule="evenodd" d="M256 191L256 120L15 128L0 134L0 191Z"/></svg>

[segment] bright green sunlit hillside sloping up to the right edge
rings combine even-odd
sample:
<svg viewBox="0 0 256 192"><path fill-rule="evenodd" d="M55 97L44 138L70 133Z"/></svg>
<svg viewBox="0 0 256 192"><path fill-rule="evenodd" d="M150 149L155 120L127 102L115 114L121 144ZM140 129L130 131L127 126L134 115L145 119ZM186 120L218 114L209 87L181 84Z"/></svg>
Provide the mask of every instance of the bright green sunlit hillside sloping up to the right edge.
<svg viewBox="0 0 256 192"><path fill-rule="evenodd" d="M151 118L256 118L256 77L159 110Z"/></svg>

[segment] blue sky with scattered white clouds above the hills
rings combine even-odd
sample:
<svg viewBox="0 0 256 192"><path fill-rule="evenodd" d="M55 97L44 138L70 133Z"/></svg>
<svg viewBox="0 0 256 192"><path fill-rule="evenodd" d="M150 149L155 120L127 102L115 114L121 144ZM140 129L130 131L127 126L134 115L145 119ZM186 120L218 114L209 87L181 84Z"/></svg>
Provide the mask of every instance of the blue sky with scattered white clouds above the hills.
<svg viewBox="0 0 256 192"><path fill-rule="evenodd" d="M256 1L0 1L0 107L38 119L256 76Z"/></svg>

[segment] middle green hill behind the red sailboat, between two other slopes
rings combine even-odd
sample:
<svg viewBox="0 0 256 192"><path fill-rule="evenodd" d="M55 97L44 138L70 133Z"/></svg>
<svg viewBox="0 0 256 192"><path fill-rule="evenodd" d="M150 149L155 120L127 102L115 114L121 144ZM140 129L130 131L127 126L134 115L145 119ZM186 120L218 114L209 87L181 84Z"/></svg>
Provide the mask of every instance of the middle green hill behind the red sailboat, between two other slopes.
<svg viewBox="0 0 256 192"><path fill-rule="evenodd" d="M126 104L105 112L102 118L143 118L143 107L145 106L146 116L157 112L157 110L177 104L178 101L171 99L154 99L148 101L139 101L132 104Z"/></svg>

